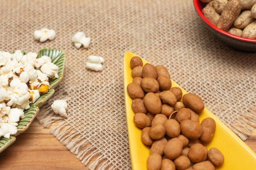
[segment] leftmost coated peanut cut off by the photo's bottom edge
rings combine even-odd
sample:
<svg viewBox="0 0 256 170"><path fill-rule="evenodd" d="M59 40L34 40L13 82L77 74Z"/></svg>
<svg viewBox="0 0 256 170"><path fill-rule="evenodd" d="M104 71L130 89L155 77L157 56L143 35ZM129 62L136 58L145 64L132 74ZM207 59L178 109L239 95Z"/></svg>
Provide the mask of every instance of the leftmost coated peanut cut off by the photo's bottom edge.
<svg viewBox="0 0 256 170"><path fill-rule="evenodd" d="M160 170L162 164L162 156L158 153L153 153L149 155L147 160L147 169L148 170Z"/></svg>

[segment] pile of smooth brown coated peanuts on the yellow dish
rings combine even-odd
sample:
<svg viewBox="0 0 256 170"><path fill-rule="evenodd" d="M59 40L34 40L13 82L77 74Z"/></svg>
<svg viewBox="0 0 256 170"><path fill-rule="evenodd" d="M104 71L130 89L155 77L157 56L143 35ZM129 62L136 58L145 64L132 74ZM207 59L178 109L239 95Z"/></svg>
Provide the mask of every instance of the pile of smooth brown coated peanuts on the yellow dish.
<svg viewBox="0 0 256 170"><path fill-rule="evenodd" d="M192 165L193 170L215 170L222 165L220 150L202 145L212 140L216 129L212 118L199 123L202 99L192 93L182 97L180 88L171 87L164 66L143 66L140 57L132 57L130 66L134 79L127 91L133 99L135 125L142 129L141 140L151 146L148 170L192 170Z"/></svg>

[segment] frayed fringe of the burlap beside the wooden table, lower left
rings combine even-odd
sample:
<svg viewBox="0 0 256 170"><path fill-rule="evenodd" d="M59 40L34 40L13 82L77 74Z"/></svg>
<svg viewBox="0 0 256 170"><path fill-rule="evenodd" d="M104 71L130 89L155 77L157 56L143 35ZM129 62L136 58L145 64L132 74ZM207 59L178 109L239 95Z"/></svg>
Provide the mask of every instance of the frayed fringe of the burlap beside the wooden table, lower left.
<svg viewBox="0 0 256 170"><path fill-rule="evenodd" d="M112 170L114 166L97 147L95 147L88 139L80 136L80 132L76 131L68 122L63 120L59 126L52 128L50 134L54 135L62 144L64 144L70 152L76 155L85 166L89 162L90 170ZM79 136L79 137L77 137ZM83 147L85 146L85 147ZM95 158L97 157L97 158ZM95 158L95 159L94 159Z"/></svg>

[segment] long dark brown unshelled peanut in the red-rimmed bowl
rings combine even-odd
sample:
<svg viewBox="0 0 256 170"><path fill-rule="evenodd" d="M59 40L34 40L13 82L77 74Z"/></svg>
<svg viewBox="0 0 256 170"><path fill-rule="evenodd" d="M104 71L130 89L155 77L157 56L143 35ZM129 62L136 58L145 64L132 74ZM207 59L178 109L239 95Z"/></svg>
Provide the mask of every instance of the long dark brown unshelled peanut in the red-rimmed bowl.
<svg viewBox="0 0 256 170"><path fill-rule="evenodd" d="M228 31L240 14L242 4L240 0L229 0L223 9L217 27Z"/></svg>

